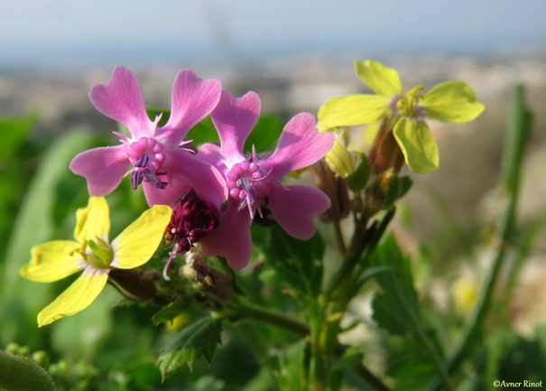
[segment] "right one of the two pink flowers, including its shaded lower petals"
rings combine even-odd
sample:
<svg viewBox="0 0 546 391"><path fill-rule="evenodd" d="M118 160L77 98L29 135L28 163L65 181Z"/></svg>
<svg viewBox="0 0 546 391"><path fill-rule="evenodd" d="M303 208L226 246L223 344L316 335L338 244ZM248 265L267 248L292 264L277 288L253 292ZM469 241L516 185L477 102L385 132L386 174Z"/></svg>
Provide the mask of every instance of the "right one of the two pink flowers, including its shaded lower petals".
<svg viewBox="0 0 546 391"><path fill-rule="evenodd" d="M319 189L305 184L281 183L289 172L316 163L329 152L334 135L319 133L309 113L294 116L282 131L277 148L267 157L243 154L246 137L260 115L261 100L254 92L234 98L227 91L212 112L220 146L203 144L199 156L215 164L224 174L229 204L218 228L201 239L206 256L225 256L234 269L248 264L252 251L250 225L262 206L292 237L310 239L315 233L313 218L329 209L330 201Z"/></svg>

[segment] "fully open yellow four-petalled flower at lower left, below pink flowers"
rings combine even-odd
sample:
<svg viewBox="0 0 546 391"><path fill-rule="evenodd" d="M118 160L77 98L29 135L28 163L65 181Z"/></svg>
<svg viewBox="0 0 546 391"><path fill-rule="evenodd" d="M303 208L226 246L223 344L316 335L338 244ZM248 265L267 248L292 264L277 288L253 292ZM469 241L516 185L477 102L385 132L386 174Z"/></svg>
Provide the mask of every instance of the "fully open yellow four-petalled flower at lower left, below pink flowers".
<svg viewBox="0 0 546 391"><path fill-rule="evenodd" d="M32 260L21 268L24 278L40 283L58 281L83 270L38 314L38 325L42 327L87 308L105 287L110 270L132 269L148 262L170 219L170 207L155 205L110 243L108 204L103 197L90 197L88 207L76 212L76 241L53 240L32 247Z"/></svg>

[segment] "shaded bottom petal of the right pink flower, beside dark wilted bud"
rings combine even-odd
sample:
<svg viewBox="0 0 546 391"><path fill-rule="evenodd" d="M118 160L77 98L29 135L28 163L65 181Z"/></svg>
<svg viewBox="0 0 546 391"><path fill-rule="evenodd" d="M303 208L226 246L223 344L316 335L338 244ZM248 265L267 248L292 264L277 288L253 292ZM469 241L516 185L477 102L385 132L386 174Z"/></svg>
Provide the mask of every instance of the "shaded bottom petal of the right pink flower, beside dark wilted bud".
<svg viewBox="0 0 546 391"><path fill-rule="evenodd" d="M235 270L248 265L252 255L250 216L237 211L236 202L230 202L220 218L220 225L200 240L205 256L224 256Z"/></svg>

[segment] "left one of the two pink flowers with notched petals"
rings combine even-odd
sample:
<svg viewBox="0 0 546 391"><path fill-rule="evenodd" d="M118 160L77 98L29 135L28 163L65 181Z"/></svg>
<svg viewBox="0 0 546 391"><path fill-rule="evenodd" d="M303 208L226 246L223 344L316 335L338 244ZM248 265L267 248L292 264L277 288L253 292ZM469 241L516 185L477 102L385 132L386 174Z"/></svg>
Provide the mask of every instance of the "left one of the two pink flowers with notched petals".
<svg viewBox="0 0 546 391"><path fill-rule="evenodd" d="M180 70L172 86L171 117L160 127L161 116L151 121L146 114L138 79L116 67L108 84L91 88L89 98L99 112L125 125L131 138L114 132L121 145L83 152L72 160L70 170L87 179L91 196L109 194L130 173L134 189L143 183L150 206L173 206L190 187L211 205L221 204L227 200L222 175L182 147L191 127L217 106L221 90L219 80L202 80L192 70Z"/></svg>

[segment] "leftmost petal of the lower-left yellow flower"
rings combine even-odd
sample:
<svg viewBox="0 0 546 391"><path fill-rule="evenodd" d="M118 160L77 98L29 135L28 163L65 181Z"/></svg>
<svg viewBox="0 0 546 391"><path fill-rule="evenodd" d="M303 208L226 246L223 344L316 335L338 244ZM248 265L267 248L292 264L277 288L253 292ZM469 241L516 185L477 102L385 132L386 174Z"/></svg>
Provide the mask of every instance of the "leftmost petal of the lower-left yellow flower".
<svg viewBox="0 0 546 391"><path fill-rule="evenodd" d="M34 246L31 262L23 265L19 273L27 280L39 283L51 283L73 275L83 268L82 257L74 253L79 247L79 243L69 240L54 240Z"/></svg>

